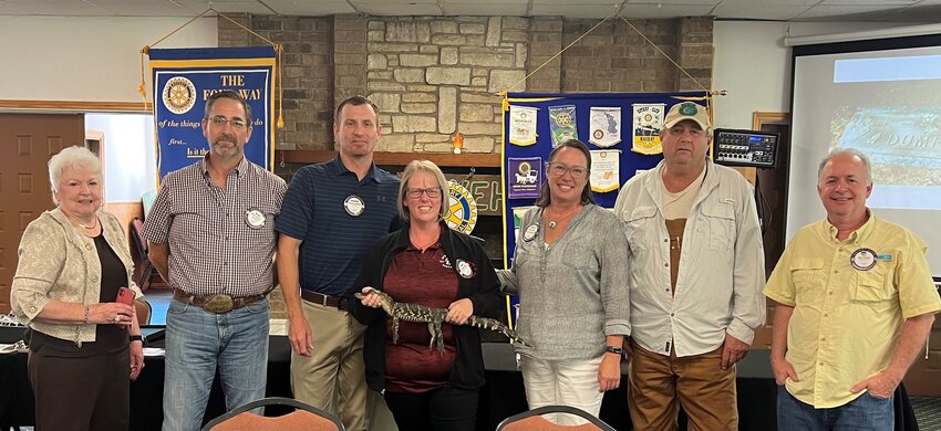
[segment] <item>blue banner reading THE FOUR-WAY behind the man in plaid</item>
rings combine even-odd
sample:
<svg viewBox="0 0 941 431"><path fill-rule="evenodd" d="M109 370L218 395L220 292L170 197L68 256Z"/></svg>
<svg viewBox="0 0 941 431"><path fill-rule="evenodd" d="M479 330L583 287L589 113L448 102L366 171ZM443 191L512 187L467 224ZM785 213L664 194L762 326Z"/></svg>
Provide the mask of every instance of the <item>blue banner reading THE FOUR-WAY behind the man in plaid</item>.
<svg viewBox="0 0 941 431"><path fill-rule="evenodd" d="M275 49L192 48L149 50L154 83L154 128L159 178L209 151L201 122L206 98L231 90L251 106L251 139L245 156L273 168Z"/></svg>

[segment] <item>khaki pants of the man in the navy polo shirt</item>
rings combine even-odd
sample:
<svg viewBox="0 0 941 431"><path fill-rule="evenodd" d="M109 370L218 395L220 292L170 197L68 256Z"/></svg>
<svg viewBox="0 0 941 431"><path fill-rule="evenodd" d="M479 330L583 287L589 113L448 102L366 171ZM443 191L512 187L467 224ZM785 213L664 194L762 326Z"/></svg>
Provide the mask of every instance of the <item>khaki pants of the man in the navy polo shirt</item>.
<svg viewBox="0 0 941 431"><path fill-rule="evenodd" d="M363 364L365 326L350 313L301 301L313 334L310 356L291 355L294 398L340 417L351 431L369 429L372 409Z"/></svg>

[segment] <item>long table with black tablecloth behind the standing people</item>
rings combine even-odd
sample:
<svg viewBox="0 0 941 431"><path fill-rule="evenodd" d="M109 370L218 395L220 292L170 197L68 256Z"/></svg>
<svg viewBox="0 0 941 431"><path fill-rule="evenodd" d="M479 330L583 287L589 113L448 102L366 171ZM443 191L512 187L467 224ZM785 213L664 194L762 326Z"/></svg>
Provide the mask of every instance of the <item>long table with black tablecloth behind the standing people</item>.
<svg viewBox="0 0 941 431"><path fill-rule="evenodd" d="M0 328L0 343L20 339L22 328L15 333ZM268 349L269 397L291 397L290 344L285 336L271 336ZM513 347L501 343L485 343L484 359L487 385L480 390L477 430L493 431L503 419L526 410L523 376L516 369ZM131 385L131 429L159 430L163 421L164 358L145 358L146 368ZM624 370L625 368L622 368ZM628 413L627 376L621 388L604 395L601 419L618 430L630 430ZM777 387L771 377L767 350L752 350L738 364L736 379L741 430L776 430ZM225 398L218 379L206 410L205 421L224 413ZM266 414L281 414L283 410L269 408ZM31 425L34 417L33 395L27 376L27 355L0 355L0 430L15 425ZM682 421L681 421L682 423ZM681 425L681 430L685 427ZM918 424L904 388L896 392L896 430L917 431Z"/></svg>

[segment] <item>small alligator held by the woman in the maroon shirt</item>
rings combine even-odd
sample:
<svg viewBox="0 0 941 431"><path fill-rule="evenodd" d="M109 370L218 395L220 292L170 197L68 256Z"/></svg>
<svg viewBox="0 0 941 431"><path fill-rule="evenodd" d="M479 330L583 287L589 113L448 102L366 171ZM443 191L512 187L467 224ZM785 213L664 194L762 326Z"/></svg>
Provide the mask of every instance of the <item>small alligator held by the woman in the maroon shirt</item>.
<svg viewBox="0 0 941 431"><path fill-rule="evenodd" d="M392 316L392 343L399 344L399 322L427 323L428 333L432 335L432 340L428 348L436 348L438 354L444 355L444 339L441 335L441 324L447 316L446 308L432 308L425 305L396 303L385 292L373 288L370 293L379 295L382 299L382 309ZM360 292L353 294L358 299L364 298L366 295ZM516 332L504 325L499 320L486 317L471 316L465 325L471 325L477 328L494 330L505 335L507 338L526 346L526 343L516 336Z"/></svg>

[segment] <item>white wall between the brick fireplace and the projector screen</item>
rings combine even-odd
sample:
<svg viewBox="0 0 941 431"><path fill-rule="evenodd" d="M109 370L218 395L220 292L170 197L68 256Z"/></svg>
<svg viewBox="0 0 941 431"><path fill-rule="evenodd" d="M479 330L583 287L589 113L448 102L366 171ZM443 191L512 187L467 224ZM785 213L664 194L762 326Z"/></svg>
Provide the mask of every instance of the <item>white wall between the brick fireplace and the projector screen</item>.
<svg viewBox="0 0 941 431"><path fill-rule="evenodd" d="M713 88L716 127L752 128L752 113L790 111L790 49L784 38L914 25L888 22L716 21Z"/></svg>

